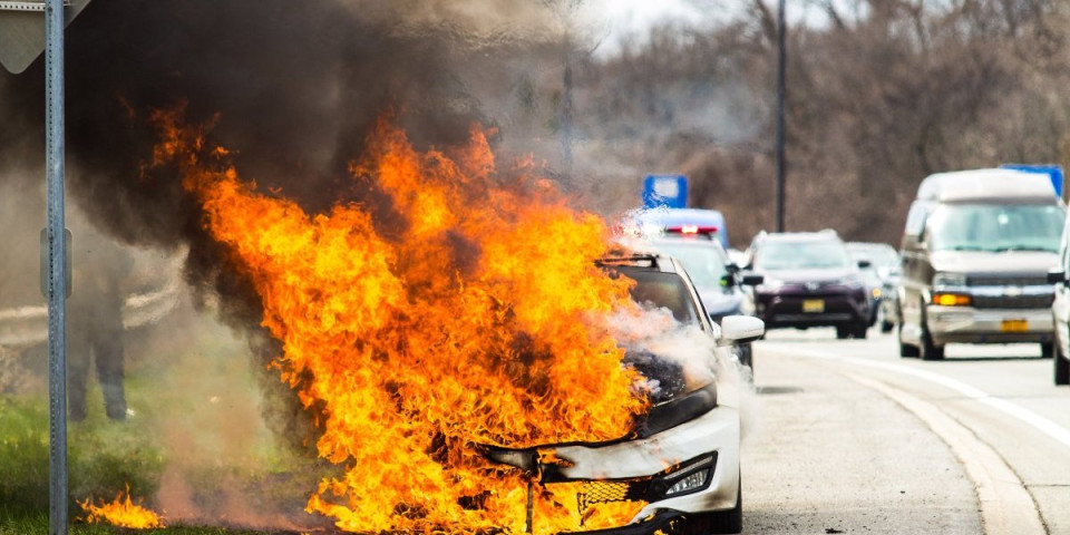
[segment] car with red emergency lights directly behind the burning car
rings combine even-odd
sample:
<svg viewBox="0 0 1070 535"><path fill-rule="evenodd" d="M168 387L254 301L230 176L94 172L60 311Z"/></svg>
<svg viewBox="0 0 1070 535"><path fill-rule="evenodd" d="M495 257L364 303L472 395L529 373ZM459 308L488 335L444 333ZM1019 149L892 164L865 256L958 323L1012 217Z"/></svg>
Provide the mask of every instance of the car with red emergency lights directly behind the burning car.
<svg viewBox="0 0 1070 535"><path fill-rule="evenodd" d="M645 245L654 252L675 257L683 264L699 299L710 315L720 323L729 315L755 315L755 303L745 285L760 284L761 275L745 275L739 266L728 259L717 240L703 239L702 234L667 233L649 240ZM745 343L738 348L739 361L753 366L753 348Z"/></svg>

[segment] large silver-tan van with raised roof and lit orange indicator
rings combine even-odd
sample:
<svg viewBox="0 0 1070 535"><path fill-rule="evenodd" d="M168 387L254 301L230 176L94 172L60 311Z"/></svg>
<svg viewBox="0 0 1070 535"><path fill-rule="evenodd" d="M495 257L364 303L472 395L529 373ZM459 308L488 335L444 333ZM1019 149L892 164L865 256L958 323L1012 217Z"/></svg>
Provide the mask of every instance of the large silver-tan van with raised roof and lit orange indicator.
<svg viewBox="0 0 1070 535"><path fill-rule="evenodd" d="M925 178L903 232L899 354L946 343L1040 343L1052 353L1048 271L1066 220L1044 175L1009 169Z"/></svg>

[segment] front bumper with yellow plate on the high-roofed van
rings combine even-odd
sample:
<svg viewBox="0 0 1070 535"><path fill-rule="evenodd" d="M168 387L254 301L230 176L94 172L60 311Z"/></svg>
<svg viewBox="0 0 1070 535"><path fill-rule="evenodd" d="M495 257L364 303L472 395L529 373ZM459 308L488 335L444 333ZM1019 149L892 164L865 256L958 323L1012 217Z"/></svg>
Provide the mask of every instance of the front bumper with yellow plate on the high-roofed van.
<svg viewBox="0 0 1070 535"><path fill-rule="evenodd" d="M928 305L925 318L937 346L945 343L1048 342L1051 309L976 309Z"/></svg>

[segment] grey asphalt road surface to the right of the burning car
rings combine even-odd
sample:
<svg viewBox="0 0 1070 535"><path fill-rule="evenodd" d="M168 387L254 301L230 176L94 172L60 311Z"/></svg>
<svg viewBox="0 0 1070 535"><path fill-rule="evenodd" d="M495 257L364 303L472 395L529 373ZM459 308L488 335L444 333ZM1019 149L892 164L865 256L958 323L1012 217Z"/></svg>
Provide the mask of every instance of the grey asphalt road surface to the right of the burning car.
<svg viewBox="0 0 1070 535"><path fill-rule="evenodd" d="M785 330L755 367L743 533L1070 534L1070 388L1039 347Z"/></svg>

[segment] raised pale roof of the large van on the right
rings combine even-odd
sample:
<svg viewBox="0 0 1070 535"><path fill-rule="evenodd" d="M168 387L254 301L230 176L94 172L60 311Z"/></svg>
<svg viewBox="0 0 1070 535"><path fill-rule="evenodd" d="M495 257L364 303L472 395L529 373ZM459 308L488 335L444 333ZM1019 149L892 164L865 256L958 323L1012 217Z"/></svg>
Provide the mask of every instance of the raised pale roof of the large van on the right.
<svg viewBox="0 0 1070 535"><path fill-rule="evenodd" d="M1014 169L972 169L928 175L917 187L918 201L963 202L986 198L1054 198L1048 175Z"/></svg>

